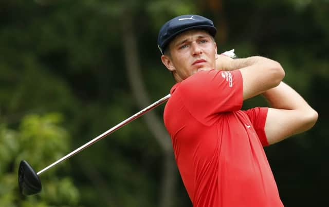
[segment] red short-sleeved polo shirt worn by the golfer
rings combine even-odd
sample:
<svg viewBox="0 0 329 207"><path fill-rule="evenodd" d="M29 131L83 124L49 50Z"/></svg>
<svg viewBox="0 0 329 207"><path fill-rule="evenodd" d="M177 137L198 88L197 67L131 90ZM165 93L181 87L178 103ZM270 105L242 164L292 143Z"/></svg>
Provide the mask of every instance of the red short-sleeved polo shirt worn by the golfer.
<svg viewBox="0 0 329 207"><path fill-rule="evenodd" d="M195 207L283 206L263 146L267 108L241 111L242 76L200 71L171 90L163 115Z"/></svg>

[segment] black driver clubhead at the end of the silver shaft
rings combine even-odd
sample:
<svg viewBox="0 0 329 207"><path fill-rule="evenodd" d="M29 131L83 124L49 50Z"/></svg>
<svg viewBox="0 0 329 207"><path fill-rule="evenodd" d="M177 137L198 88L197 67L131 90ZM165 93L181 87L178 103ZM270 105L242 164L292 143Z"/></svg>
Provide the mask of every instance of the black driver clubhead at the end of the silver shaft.
<svg viewBox="0 0 329 207"><path fill-rule="evenodd" d="M33 195L41 191L41 181L38 174L25 160L22 160L19 167L20 192L23 195Z"/></svg>

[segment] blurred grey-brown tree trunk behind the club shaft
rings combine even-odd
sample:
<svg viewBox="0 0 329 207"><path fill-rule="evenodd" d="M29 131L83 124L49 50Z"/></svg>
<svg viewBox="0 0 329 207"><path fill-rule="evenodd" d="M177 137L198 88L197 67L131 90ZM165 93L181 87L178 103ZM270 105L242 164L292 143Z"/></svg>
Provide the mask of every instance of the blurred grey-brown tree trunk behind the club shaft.
<svg viewBox="0 0 329 207"><path fill-rule="evenodd" d="M132 25L132 14L122 12L124 15L121 19L121 32L122 42L124 46L124 56L126 62L127 75L130 82L132 92L135 96L137 105L140 108L149 106L152 102L144 87L141 77L141 69L138 60L138 49L136 43L136 34ZM160 60L159 60L160 61ZM175 183L177 179L177 168L173 156L170 137L167 131L163 127L162 121L156 116L154 111L148 112L143 116L145 122L154 138L159 143L159 146L163 153L163 165L160 189L160 207L174 206L175 198Z"/></svg>

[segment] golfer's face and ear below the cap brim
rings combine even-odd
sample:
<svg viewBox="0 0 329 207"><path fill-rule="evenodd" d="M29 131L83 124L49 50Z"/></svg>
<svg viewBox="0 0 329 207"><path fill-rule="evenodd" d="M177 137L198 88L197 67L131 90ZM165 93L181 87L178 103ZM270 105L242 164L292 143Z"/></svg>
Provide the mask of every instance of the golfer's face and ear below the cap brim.
<svg viewBox="0 0 329 207"><path fill-rule="evenodd" d="M217 46L203 30L189 30L177 35L169 44L170 56L162 55L162 63L172 71L177 82L200 70L215 69Z"/></svg>

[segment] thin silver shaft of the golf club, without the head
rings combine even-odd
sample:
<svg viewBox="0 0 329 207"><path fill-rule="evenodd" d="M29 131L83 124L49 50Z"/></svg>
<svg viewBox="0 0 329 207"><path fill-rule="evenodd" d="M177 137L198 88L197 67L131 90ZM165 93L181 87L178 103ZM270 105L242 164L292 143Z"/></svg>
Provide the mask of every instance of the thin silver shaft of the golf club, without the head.
<svg viewBox="0 0 329 207"><path fill-rule="evenodd" d="M98 137L88 141L87 143L83 144L83 146L77 148L76 150L70 152L69 154L65 155L64 157L62 157L61 159L57 160L56 162L53 162L52 164L48 165L46 168L42 169L41 171L39 171L38 173L36 173L37 175L40 175L41 173L49 170L50 168L54 167L55 165L61 163L62 161L72 157L73 155L81 152L82 150L84 150L85 148L91 146L92 144L94 144L95 142L101 140L102 138L106 137L107 135L111 134L112 132L120 129L121 127L125 126L127 123L135 120L136 118L140 117L141 115L147 113L148 111L151 111L152 109L156 108L157 106L161 105L161 103L165 102L166 100L168 100L170 97L170 94L168 94L167 96L155 101L154 103L152 103L150 106L142 109L141 111L137 112L136 114L132 115L131 117L125 119L124 121L118 123L116 126L112 127L111 129L107 130L106 132L104 132L103 134L99 135Z"/></svg>

